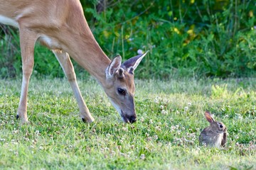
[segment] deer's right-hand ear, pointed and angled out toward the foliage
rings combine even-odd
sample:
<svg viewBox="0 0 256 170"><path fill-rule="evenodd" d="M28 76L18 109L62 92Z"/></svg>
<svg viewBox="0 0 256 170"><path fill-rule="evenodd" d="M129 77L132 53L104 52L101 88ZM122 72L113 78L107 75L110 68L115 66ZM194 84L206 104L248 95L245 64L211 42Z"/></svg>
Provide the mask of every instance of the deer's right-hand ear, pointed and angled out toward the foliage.
<svg viewBox="0 0 256 170"><path fill-rule="evenodd" d="M134 69L137 68L137 66L142 61L143 57L146 55L147 52L145 52L143 55L137 55L135 57L129 58L122 64L121 67L124 68L130 74L134 74Z"/></svg>

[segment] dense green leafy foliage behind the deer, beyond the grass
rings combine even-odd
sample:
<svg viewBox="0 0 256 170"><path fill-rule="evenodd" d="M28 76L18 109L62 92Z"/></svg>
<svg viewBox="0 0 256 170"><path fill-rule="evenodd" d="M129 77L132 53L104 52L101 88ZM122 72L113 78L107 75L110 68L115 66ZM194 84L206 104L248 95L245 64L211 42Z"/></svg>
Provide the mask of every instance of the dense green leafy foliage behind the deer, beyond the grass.
<svg viewBox="0 0 256 170"><path fill-rule="evenodd" d="M81 1L106 54L123 60L149 50L137 77L255 77L255 1ZM102 5L100 5L102 3ZM21 75L16 30L1 26L0 75ZM63 77L53 54L35 51L38 76ZM18 60L17 60L18 59ZM77 64L78 76L87 75Z"/></svg>

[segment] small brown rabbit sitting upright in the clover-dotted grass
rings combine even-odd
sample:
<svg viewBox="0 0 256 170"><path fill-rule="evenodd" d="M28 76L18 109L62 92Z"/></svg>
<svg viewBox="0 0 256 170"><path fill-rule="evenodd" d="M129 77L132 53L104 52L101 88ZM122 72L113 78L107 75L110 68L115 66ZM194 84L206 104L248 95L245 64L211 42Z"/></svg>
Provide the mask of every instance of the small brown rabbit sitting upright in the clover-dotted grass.
<svg viewBox="0 0 256 170"><path fill-rule="evenodd" d="M227 128L226 126L214 120L210 112L206 111L206 120L210 126L203 129L199 136L199 144L209 147L225 147L227 143Z"/></svg>

